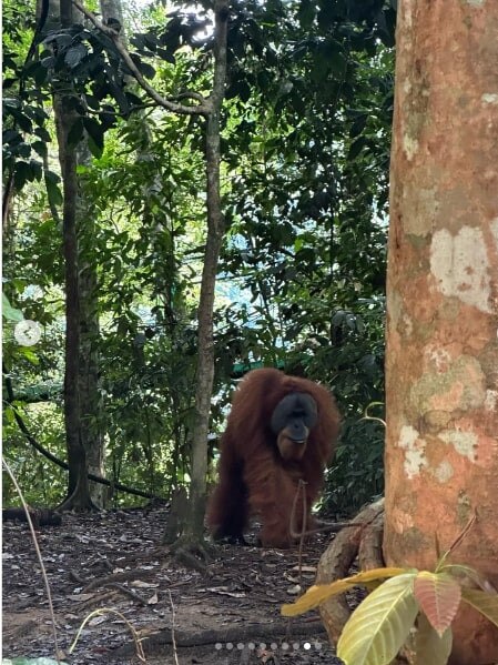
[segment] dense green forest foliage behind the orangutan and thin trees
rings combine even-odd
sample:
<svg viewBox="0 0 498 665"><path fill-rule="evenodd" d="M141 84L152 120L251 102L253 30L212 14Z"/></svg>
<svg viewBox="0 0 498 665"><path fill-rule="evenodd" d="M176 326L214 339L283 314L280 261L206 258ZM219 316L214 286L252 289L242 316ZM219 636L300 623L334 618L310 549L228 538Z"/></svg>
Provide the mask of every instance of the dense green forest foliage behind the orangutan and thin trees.
<svg viewBox="0 0 498 665"><path fill-rule="evenodd" d="M130 37L134 62L164 95L209 89L204 4L166 16L157 3L134 16L142 26ZM236 363L283 363L331 385L344 414L329 472L329 506L339 512L383 490L384 432L362 416L383 401L394 22L383 0L232 4L223 119L228 232L212 431L223 426ZM63 73L78 93L72 140L85 137L93 154L80 172L93 222L80 243L99 275L103 412L89 426L104 433L109 477L165 495L189 470L205 238L203 120L155 108L98 30L53 30L27 61L32 34L26 10L8 0L6 290L43 326L38 345L22 354L7 324L8 371L18 395L62 383L62 195L50 100ZM63 472L29 449L11 410L63 459L61 397L24 397L6 411L4 452L33 503L61 498ZM10 501L9 483L6 492Z"/></svg>

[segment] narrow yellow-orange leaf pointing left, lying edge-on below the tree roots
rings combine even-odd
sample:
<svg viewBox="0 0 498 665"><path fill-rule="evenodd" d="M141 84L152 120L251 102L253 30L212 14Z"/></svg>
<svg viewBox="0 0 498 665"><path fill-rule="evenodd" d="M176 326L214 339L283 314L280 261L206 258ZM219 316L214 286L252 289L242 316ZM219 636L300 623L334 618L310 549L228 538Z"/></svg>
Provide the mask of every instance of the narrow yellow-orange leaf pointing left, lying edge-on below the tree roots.
<svg viewBox="0 0 498 665"><path fill-rule="evenodd" d="M373 571L366 571L345 577L344 580L337 580L331 584L319 584L311 586L307 592L302 595L295 603L288 605L282 605L281 612L284 616L296 616L297 614L304 614L314 607L317 607L324 603L327 598L342 594L349 590L352 586L363 586L374 582L375 580L385 580L386 577L395 577L406 573L406 568L374 568Z"/></svg>

